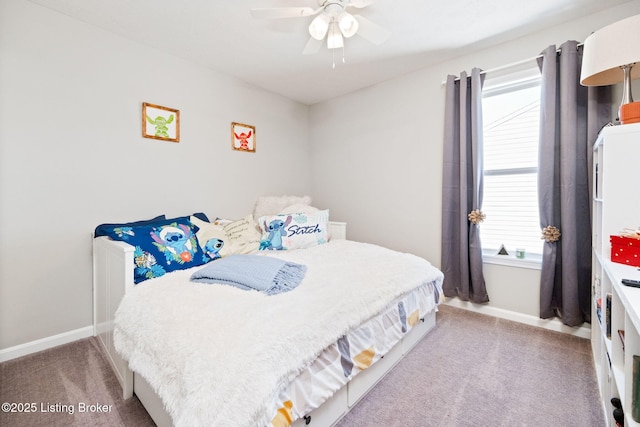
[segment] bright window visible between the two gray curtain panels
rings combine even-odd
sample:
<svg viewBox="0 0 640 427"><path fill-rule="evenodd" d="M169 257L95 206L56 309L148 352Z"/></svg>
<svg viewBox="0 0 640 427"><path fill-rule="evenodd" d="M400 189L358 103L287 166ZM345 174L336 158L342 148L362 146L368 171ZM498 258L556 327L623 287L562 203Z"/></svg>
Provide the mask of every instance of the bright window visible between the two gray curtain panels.
<svg viewBox="0 0 640 427"><path fill-rule="evenodd" d="M538 214L540 76L537 69L491 81L483 90L486 219L480 238L486 255L504 245L510 255L542 253Z"/></svg>

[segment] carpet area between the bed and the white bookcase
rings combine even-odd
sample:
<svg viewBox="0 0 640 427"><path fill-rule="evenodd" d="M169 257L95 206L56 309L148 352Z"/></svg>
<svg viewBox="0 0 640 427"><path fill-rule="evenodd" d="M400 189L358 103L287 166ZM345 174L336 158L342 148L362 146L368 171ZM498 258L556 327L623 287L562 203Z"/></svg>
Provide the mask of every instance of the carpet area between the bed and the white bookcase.
<svg viewBox="0 0 640 427"><path fill-rule="evenodd" d="M605 426L589 340L444 306L339 427Z"/></svg>

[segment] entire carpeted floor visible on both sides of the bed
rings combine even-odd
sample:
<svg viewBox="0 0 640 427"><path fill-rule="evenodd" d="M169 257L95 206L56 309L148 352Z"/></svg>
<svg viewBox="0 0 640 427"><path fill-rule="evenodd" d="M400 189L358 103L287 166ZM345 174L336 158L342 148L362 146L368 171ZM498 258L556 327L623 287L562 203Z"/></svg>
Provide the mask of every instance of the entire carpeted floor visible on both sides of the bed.
<svg viewBox="0 0 640 427"><path fill-rule="evenodd" d="M448 306L437 319L338 427L605 425L588 340ZM0 402L0 426L154 425L95 338L1 363Z"/></svg>

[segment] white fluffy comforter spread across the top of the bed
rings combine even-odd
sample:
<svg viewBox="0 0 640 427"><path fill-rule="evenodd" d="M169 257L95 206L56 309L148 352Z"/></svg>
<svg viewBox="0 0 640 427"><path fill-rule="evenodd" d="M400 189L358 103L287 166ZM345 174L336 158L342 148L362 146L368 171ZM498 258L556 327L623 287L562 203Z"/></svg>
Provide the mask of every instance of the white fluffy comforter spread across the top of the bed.
<svg viewBox="0 0 640 427"><path fill-rule="evenodd" d="M270 398L322 349L406 292L442 281L422 258L353 241L265 255L306 265L303 282L267 296L189 282L190 269L123 298L115 347L176 426L267 424Z"/></svg>

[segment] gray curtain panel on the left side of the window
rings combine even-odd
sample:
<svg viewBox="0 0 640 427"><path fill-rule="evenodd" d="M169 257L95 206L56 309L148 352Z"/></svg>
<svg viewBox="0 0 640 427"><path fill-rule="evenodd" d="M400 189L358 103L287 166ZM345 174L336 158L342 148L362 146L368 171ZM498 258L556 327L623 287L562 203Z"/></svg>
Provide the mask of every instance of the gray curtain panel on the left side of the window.
<svg viewBox="0 0 640 427"><path fill-rule="evenodd" d="M468 219L482 206L483 82L478 68L447 77L442 180L444 294L477 303L489 301L480 230Z"/></svg>

